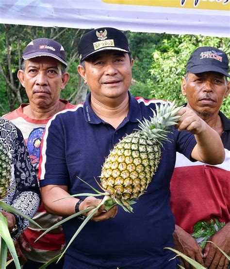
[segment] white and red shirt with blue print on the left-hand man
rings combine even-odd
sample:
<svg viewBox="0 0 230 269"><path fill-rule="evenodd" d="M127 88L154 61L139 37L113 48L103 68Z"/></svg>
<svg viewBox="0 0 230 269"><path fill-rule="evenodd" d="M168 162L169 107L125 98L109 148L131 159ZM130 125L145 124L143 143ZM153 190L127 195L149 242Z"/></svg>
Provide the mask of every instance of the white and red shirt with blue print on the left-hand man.
<svg viewBox="0 0 230 269"><path fill-rule="evenodd" d="M66 104L64 109L75 107L66 100L60 99L60 101ZM49 119L32 119L25 115L23 108L28 105L29 104L21 104L19 108L4 115L4 118L13 122L21 130L28 147L30 159L36 173L38 173L41 140ZM52 230L34 243L39 235L57 222L58 217L59 216L48 214L43 207L43 203L41 204L33 219L40 224L43 230L38 229L30 223L29 228L23 233L23 236L29 241L32 247L31 252L25 253L28 259L44 263L60 253L62 245L65 244L65 236L59 229Z"/></svg>

